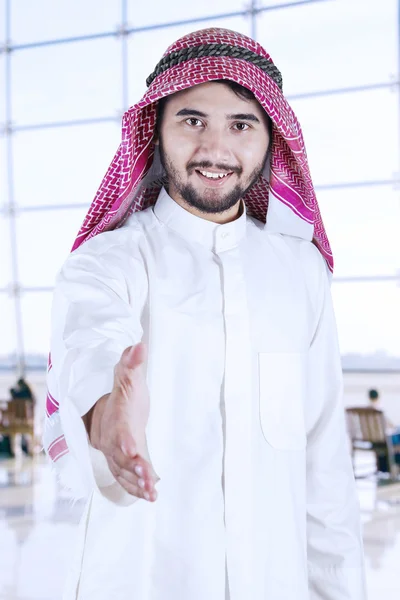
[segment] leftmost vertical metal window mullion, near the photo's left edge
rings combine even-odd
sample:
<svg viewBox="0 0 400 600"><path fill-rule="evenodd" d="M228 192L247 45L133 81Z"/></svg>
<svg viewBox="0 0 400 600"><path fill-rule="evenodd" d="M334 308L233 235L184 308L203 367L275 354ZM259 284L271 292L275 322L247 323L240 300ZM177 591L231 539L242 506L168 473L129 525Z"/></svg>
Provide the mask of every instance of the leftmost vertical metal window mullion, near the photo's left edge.
<svg viewBox="0 0 400 600"><path fill-rule="evenodd" d="M12 107L11 107L11 0L6 1L6 54L5 54L5 117L6 117L6 161L7 161L7 191L8 191L8 217L11 242L11 291L14 302L17 369L20 375L25 370L24 336L22 326L22 307L19 285L18 249L16 231L16 211L14 198L14 170L13 170L13 145L12 145Z"/></svg>

